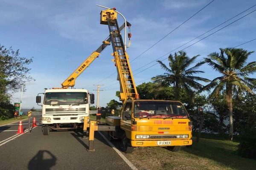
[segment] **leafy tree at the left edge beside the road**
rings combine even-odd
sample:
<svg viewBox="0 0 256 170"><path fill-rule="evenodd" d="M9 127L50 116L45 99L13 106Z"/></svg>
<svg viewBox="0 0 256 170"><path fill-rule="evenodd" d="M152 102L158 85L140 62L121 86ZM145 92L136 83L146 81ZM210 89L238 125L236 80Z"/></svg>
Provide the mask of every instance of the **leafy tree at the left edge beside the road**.
<svg viewBox="0 0 256 170"><path fill-rule="evenodd" d="M27 66L32 58L19 56L19 50L5 48L0 45L0 119L9 119L13 116L14 108L10 104L10 93L18 91L23 82L31 80L30 68Z"/></svg>

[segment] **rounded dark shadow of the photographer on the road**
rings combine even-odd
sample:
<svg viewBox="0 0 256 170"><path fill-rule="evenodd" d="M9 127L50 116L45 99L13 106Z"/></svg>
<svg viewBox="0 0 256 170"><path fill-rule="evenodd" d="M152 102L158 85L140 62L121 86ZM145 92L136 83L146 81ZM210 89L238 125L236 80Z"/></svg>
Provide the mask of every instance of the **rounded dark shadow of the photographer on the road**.
<svg viewBox="0 0 256 170"><path fill-rule="evenodd" d="M39 150L29 161L28 170L50 170L56 161L57 158L48 150Z"/></svg>

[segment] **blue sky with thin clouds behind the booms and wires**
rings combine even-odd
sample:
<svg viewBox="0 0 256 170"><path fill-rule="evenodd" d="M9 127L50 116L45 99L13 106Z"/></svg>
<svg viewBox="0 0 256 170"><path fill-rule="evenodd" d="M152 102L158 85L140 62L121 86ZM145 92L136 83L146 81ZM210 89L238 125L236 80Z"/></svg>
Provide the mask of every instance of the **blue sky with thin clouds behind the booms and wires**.
<svg viewBox="0 0 256 170"><path fill-rule="evenodd" d="M209 2L210 0L1 0L0 44L6 47L12 46L15 50L20 49L20 55L23 57L34 57L29 67L36 81L26 83L23 107L36 106L35 96L44 92L44 88L60 87L61 83L108 36L108 26L99 24L99 13L102 8L95 4L116 7L132 24L131 46L127 50L132 60ZM255 0L215 0L183 26L134 60L131 63L132 70L172 51L255 3ZM254 9L256 7L250 11ZM119 25L122 23L119 17ZM236 46L254 38L256 38L256 12L192 45L185 51L190 57L200 54L199 60L207 57L211 52L219 51L218 48ZM240 47L254 51L256 41ZM180 49L182 48L178 50ZM101 106L105 106L111 99L117 99L115 91L119 90L116 74L105 79L116 71L111 61L113 58L111 53L112 48L108 47L76 80L76 88L85 88L90 91L96 89L94 84L98 82L104 84L102 86L104 91L100 96ZM255 60L256 53L252 54L248 61ZM200 69L205 71L205 74L199 75L201 77L213 79L218 76L207 65L203 65ZM139 71L134 71L134 74ZM155 65L136 74L134 78L139 85L142 80L148 79L149 81L149 78L163 74L163 72L159 65ZM253 77L256 76L253 75ZM101 81L102 79L105 80ZM17 102L19 96L20 93L15 93L12 102Z"/></svg>

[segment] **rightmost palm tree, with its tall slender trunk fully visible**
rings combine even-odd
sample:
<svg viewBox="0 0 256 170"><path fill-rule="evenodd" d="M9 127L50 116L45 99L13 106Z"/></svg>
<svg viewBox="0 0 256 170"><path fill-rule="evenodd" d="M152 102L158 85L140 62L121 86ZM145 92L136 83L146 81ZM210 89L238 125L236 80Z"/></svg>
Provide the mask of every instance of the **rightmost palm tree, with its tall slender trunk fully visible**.
<svg viewBox="0 0 256 170"><path fill-rule="evenodd" d="M242 48L220 48L221 53L211 53L205 62L218 71L221 76L213 79L202 90L210 91L210 97L218 96L220 92L226 95L226 102L230 118L230 140L233 140L233 94L234 91L252 92L256 79L248 77L256 72L256 62L247 63L246 60L254 51L248 52Z"/></svg>

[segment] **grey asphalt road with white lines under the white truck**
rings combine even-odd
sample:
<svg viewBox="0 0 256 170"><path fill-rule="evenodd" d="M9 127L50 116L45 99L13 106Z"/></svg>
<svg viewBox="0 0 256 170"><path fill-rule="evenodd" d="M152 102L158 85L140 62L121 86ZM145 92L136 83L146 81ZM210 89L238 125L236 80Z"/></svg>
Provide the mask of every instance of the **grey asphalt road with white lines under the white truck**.
<svg viewBox="0 0 256 170"><path fill-rule="evenodd" d="M41 113L32 113L41 120ZM37 121L39 123L41 121ZM23 121L24 124L27 121ZM0 127L17 130L17 123ZM23 125L28 128L28 125ZM128 164L96 132L95 152L88 152L88 140L81 139L81 132L57 131L44 136L41 125L9 142L16 131L0 132L0 169L3 170L130 170ZM12 139L12 138L11 138ZM5 144L3 144L5 143ZM3 145L1 145L3 144Z"/></svg>

